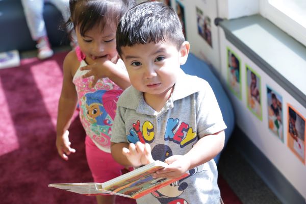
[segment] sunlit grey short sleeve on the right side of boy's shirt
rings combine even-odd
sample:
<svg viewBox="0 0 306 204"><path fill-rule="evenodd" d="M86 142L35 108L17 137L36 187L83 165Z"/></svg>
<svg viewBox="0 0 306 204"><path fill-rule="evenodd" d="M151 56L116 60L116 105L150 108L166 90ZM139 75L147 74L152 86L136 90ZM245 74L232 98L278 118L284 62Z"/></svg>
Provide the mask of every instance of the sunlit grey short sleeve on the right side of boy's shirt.
<svg viewBox="0 0 306 204"><path fill-rule="evenodd" d="M222 113L211 86L206 82L196 94L197 132L201 138L226 129Z"/></svg>

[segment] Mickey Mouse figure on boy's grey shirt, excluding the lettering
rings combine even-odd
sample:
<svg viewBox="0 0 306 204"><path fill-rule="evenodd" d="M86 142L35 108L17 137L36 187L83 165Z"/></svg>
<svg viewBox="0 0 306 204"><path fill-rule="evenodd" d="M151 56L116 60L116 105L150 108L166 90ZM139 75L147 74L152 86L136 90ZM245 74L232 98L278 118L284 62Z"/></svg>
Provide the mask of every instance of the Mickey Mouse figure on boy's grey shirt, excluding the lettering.
<svg viewBox="0 0 306 204"><path fill-rule="evenodd" d="M165 144L156 145L151 151L152 158L154 160L165 161L167 158L171 157L172 150L169 146ZM170 185L167 185L157 191L152 192L151 194L156 197L161 203L167 204L188 204L184 198L179 198L180 195L187 189L188 184L183 182L188 177L196 173L196 168L189 170L189 176L176 181Z"/></svg>

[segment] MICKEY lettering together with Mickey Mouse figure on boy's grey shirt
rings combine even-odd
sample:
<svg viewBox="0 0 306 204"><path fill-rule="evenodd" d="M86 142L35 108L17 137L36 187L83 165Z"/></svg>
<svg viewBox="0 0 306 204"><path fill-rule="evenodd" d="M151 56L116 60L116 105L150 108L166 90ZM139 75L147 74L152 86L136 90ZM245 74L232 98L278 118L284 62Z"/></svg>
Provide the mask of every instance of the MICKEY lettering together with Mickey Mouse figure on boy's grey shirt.
<svg viewBox="0 0 306 204"><path fill-rule="evenodd" d="M139 120L132 124L130 129L130 134L126 135L126 139L131 143L136 143L138 141L142 143L152 143L155 139L154 125L150 121L144 121L143 124ZM164 135L164 140L168 142L173 142L179 145L181 148L192 144L197 139L196 132L193 131L192 127L188 123L183 121L180 122L178 118L169 118L166 125L166 131ZM154 160L165 161L167 158L171 157L172 150L168 145L157 144L152 148L151 151L152 158ZM194 175L197 172L197 168L189 170L189 176L176 181L170 185L167 185L151 194L156 197L161 203L177 204L184 203L188 204L188 201L179 196L184 193L187 189L188 184L183 182L188 177Z"/></svg>

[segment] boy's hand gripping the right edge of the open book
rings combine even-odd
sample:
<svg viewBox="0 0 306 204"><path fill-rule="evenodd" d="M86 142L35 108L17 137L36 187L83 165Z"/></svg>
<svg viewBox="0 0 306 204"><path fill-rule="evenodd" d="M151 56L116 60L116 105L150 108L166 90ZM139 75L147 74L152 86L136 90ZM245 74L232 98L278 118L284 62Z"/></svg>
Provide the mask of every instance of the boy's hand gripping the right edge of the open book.
<svg viewBox="0 0 306 204"><path fill-rule="evenodd" d="M158 170L153 177L165 177L167 179L175 179L182 176L189 170L190 162L183 155L173 155L165 160L167 167Z"/></svg>

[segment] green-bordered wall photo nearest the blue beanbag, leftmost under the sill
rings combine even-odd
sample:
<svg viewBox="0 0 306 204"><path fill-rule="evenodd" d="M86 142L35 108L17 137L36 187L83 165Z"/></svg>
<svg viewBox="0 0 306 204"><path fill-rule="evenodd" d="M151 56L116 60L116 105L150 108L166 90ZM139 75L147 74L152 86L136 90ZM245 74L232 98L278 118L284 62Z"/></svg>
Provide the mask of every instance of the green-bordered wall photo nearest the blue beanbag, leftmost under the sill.
<svg viewBox="0 0 306 204"><path fill-rule="evenodd" d="M241 61L237 54L235 54L229 47L226 47L227 52L227 85L241 100Z"/></svg>

